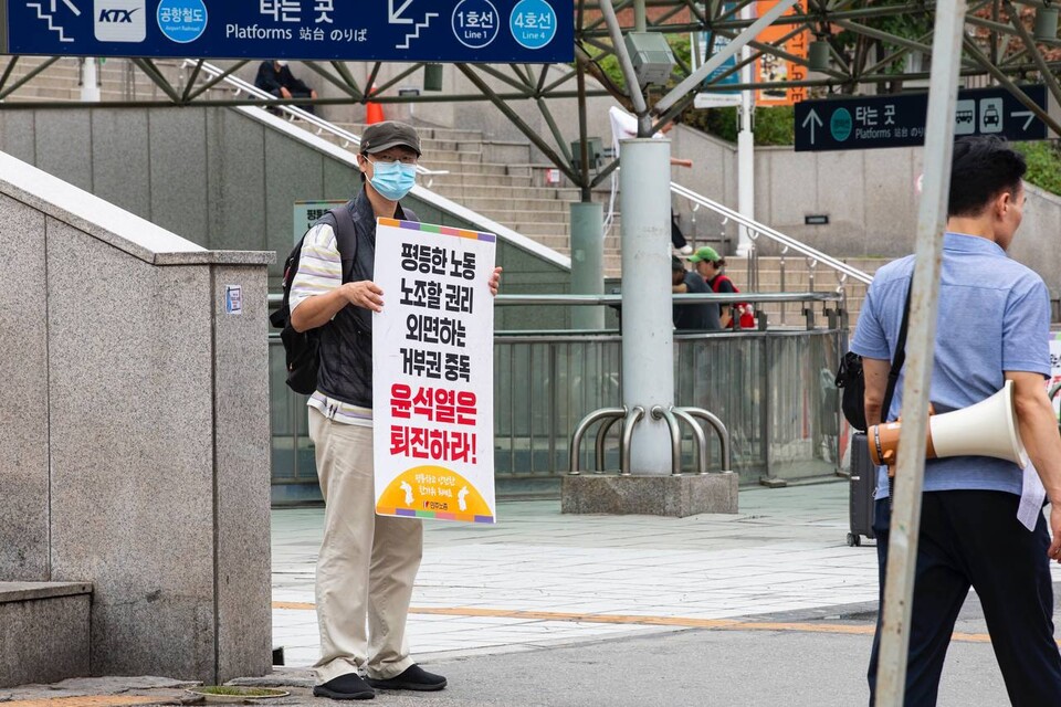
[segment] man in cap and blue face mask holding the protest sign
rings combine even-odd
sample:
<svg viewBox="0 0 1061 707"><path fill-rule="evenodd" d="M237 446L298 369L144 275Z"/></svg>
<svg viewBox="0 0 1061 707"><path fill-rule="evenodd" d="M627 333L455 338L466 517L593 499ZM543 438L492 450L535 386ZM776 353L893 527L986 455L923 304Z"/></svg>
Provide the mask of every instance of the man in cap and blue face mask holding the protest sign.
<svg viewBox="0 0 1061 707"><path fill-rule="evenodd" d="M308 401L325 500L316 581L318 697L370 699L374 688L435 690L447 684L412 662L406 640L421 521L376 515L372 463L372 313L385 302L372 282L376 220L418 220L400 202L416 182L419 158L412 126L368 126L357 156L364 187L346 205L356 253L340 253L333 228L318 223L304 238L292 282L291 325L321 329L317 390ZM490 278L493 294L500 274L495 268Z"/></svg>

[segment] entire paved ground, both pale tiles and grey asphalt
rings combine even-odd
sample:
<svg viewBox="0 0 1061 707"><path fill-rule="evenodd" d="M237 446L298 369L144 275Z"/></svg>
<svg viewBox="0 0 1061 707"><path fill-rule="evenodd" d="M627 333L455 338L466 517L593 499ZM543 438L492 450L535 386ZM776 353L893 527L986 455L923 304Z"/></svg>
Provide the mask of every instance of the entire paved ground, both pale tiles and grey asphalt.
<svg viewBox="0 0 1061 707"><path fill-rule="evenodd" d="M329 703L308 695L307 668L317 656L322 516L273 514L274 643L291 667L270 679L292 689L273 704ZM414 657L451 687L381 693L372 704L865 704L876 560L872 547L844 544L843 484L742 489L740 513L727 516L564 516L555 502L502 504L498 516L495 527L427 526L410 639ZM939 705L1007 705L975 595L956 629L967 635L952 646ZM64 707L137 695L172 704L182 693L150 680L76 680L0 690L0 707L78 695L104 697Z"/></svg>

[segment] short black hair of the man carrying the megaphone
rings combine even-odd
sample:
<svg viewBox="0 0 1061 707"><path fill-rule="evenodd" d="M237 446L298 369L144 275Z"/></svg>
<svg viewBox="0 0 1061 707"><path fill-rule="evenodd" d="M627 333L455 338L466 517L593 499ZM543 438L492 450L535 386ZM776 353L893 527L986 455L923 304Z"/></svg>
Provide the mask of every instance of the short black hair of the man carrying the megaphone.
<svg viewBox="0 0 1061 707"><path fill-rule="evenodd" d="M1025 156L995 135L954 141L947 217L976 217L1004 191L1018 193Z"/></svg>

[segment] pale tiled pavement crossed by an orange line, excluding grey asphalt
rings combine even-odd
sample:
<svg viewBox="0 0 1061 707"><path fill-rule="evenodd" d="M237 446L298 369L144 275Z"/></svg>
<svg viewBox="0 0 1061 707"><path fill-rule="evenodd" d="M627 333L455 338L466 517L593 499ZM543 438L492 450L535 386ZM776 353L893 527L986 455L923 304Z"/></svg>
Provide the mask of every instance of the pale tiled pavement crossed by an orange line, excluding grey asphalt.
<svg viewBox="0 0 1061 707"><path fill-rule="evenodd" d="M838 482L742 489L737 515L569 516L558 502L514 502L492 527L427 521L410 643L419 658L495 653L871 602L875 551L847 546L847 508ZM317 656L322 523L322 509L273 513L273 643L291 666Z"/></svg>

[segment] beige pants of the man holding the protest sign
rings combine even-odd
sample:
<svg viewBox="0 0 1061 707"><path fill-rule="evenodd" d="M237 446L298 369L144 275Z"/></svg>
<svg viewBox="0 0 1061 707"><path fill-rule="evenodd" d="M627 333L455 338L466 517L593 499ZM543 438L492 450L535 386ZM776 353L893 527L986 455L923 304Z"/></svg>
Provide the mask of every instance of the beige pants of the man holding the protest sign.
<svg viewBox="0 0 1061 707"><path fill-rule="evenodd" d="M371 678L395 677L412 665L406 620L423 526L376 515L371 428L335 422L309 408L309 439L325 500L317 676L327 683L364 667Z"/></svg>

